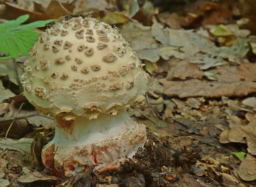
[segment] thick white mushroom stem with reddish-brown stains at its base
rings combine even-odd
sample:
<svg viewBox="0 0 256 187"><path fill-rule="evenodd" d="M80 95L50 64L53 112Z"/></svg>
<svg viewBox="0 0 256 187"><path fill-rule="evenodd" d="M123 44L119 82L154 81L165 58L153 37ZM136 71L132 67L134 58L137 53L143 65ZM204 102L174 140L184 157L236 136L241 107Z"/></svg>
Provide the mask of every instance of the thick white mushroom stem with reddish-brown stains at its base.
<svg viewBox="0 0 256 187"><path fill-rule="evenodd" d="M132 158L146 140L145 125L134 122L127 111L120 110L116 116L99 114L97 120L62 118L55 119L55 137L43 149L42 159L50 167L58 147L55 167L61 166L65 175L74 175L91 165L99 172L117 169L119 162L126 156Z"/></svg>

